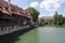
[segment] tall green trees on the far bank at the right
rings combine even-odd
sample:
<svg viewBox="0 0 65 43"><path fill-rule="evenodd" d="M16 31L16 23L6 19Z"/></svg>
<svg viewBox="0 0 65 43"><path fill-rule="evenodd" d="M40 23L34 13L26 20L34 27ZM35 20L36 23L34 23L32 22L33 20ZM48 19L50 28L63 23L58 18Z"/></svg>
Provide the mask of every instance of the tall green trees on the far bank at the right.
<svg viewBox="0 0 65 43"><path fill-rule="evenodd" d="M64 18L63 15L58 15L57 13L54 14L53 16L53 25L63 25L64 24Z"/></svg>

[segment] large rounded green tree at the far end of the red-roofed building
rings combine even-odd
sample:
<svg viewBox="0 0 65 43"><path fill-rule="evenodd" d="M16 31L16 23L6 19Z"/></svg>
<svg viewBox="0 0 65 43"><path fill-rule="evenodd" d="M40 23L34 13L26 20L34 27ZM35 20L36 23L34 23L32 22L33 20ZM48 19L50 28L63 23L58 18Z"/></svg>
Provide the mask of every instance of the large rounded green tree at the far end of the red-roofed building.
<svg viewBox="0 0 65 43"><path fill-rule="evenodd" d="M27 8L26 10L30 13L32 22L37 22L38 16L39 16L39 12L36 9L30 8L30 6Z"/></svg>

